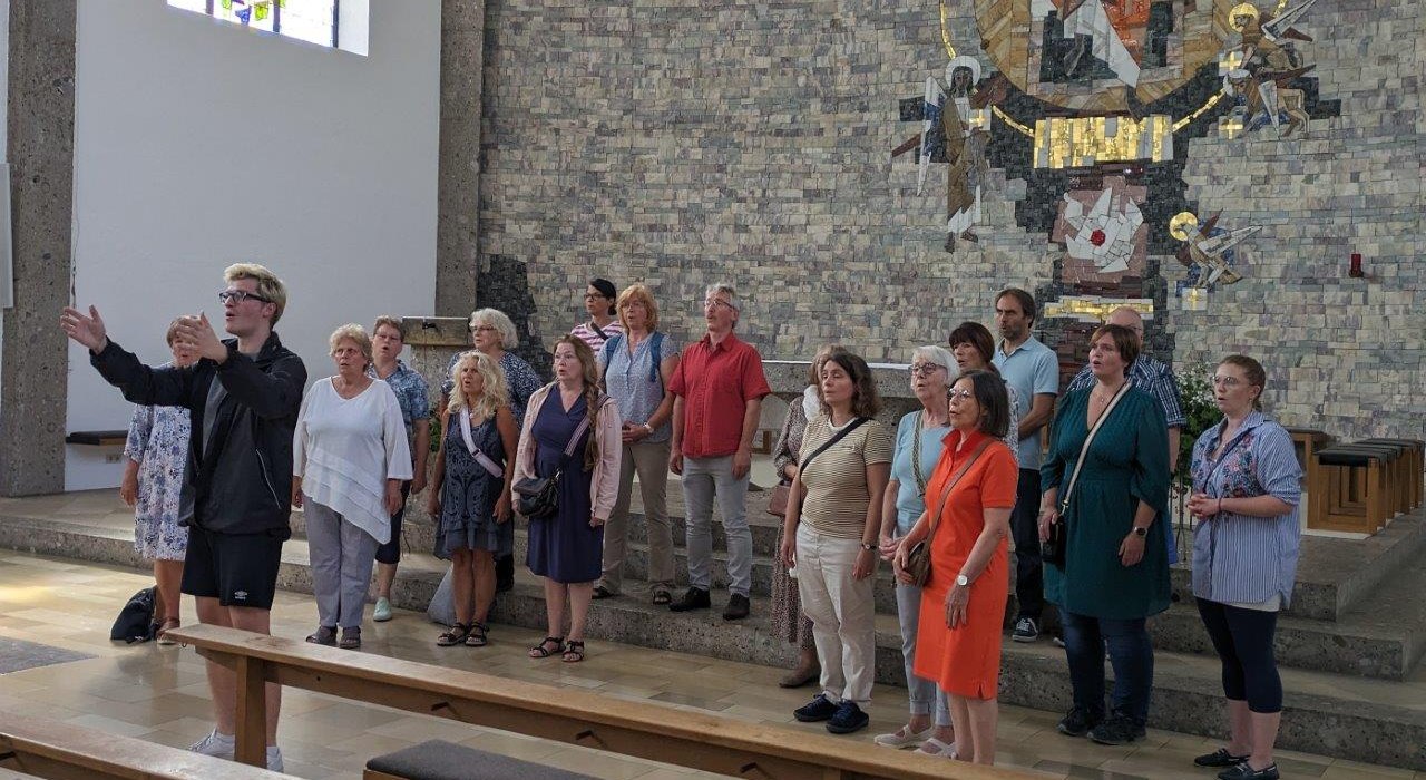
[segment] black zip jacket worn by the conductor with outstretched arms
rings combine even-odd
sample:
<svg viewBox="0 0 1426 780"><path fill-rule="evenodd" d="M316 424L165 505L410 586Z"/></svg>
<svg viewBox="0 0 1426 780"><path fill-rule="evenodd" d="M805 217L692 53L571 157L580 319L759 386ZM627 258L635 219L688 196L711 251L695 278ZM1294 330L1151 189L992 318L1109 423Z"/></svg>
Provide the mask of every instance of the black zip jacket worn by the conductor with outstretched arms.
<svg viewBox="0 0 1426 780"><path fill-rule="evenodd" d="M150 368L110 339L90 364L124 398L145 406L184 406L191 416L180 525L215 533L272 533L288 538L292 503L292 431L302 406L307 366L268 337L257 358L224 339L228 359L207 358L188 368ZM227 395L204 451L202 418L212 382Z"/></svg>

